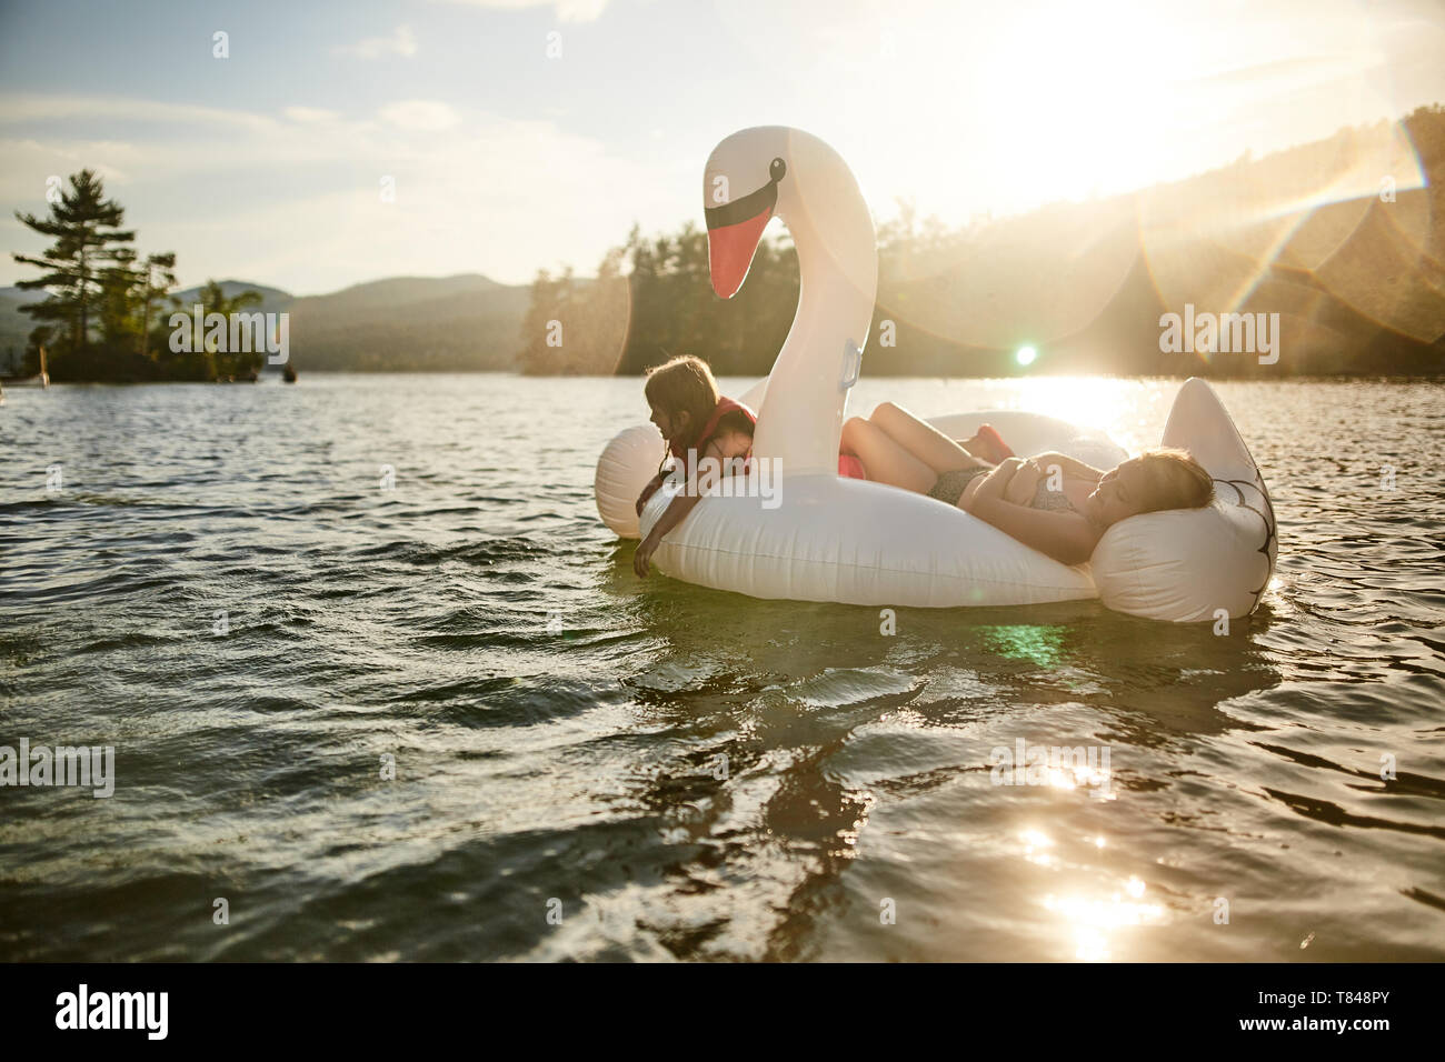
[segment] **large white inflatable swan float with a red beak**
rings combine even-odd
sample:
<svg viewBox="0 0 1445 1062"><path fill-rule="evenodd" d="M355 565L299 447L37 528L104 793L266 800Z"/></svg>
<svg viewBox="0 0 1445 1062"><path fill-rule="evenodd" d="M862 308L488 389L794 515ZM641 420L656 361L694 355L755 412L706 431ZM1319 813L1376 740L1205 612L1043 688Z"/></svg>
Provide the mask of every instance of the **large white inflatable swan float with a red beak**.
<svg viewBox="0 0 1445 1062"><path fill-rule="evenodd" d="M1264 480L1214 390L1188 380L1162 445L1194 454L1215 480L1205 509L1147 513L1111 526L1090 564L1066 566L923 494L840 478L838 441L877 295L873 220L853 173L822 140L762 126L722 140L702 176L712 288L731 298L776 215L798 249L798 312L772 373L738 400L759 410L756 465L777 470L775 497L714 488L657 546L679 579L759 598L952 608L1098 597L1110 608L1176 623L1254 611L1274 571ZM1126 457L1107 436L1014 410L931 420L951 438L990 422L1017 454L1056 449L1097 468ZM603 451L594 490L603 520L640 538L675 497L634 503L665 454L636 425ZM760 472L751 472L759 475ZM738 477L746 478L746 477Z"/></svg>

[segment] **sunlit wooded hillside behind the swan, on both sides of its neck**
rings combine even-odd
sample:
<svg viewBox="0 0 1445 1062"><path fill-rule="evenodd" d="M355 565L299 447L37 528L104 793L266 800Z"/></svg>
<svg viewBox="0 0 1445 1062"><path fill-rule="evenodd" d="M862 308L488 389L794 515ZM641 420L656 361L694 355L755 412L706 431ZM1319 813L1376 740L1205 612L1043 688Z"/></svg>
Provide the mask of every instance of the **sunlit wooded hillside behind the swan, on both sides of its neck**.
<svg viewBox="0 0 1445 1062"><path fill-rule="evenodd" d="M876 228L874 377L1445 374L1445 105L1104 199L916 221ZM634 230L597 275L597 298L536 285L523 371L631 376L686 351L759 376L799 299L780 234L720 301L692 221Z"/></svg>

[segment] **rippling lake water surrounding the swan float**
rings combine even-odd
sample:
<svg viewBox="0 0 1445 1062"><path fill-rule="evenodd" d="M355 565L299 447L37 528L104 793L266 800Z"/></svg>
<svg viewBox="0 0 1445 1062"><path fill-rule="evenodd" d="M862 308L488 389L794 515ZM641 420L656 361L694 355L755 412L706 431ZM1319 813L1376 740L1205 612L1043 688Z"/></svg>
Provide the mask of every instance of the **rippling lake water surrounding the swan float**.
<svg viewBox="0 0 1445 1062"><path fill-rule="evenodd" d="M1176 389L853 409L1133 449ZM1254 617L892 637L633 575L591 480L637 380L12 390L0 746L116 779L0 789L0 959L1442 959L1442 387L1218 390L1279 514ZM1108 774L993 785L1020 738Z"/></svg>

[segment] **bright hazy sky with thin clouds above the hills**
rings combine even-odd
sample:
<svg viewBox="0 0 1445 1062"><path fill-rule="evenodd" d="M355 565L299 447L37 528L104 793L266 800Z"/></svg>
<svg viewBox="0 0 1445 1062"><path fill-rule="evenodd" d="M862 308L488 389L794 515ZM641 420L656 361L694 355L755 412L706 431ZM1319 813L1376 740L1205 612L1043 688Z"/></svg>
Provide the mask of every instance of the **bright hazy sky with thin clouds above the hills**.
<svg viewBox="0 0 1445 1062"><path fill-rule="evenodd" d="M959 225L1399 118L1442 56L1445 0L0 0L0 231L90 166L184 286L526 283L701 225L747 126Z"/></svg>

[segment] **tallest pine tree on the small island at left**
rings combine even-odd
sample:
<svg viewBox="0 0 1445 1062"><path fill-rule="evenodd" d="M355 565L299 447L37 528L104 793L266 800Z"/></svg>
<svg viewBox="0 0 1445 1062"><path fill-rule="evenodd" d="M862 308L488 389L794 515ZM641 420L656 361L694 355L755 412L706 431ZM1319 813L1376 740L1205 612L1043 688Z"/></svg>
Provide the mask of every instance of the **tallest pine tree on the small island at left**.
<svg viewBox="0 0 1445 1062"><path fill-rule="evenodd" d="M90 321L103 299L107 279L113 285L118 279L110 272L120 250L116 244L136 238L134 233L120 231L126 210L104 195L101 179L82 169L71 175L69 189L61 192L59 202L51 204L48 218L14 212L27 228L55 238L42 259L12 254L16 262L46 270L33 280L20 280L16 288L51 290L51 298L22 306L22 311L40 321L64 322L75 354L84 354L90 342Z"/></svg>

